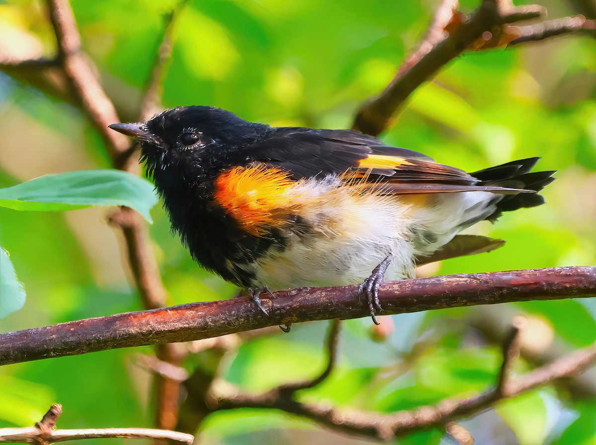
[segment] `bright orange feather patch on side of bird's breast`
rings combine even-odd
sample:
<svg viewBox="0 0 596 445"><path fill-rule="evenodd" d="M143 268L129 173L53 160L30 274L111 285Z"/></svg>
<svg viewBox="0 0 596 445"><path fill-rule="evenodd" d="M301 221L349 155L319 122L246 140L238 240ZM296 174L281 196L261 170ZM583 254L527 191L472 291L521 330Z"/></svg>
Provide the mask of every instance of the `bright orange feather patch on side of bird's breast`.
<svg viewBox="0 0 596 445"><path fill-rule="evenodd" d="M284 170L234 167L216 179L214 197L244 230L260 235L267 225L283 221L284 207L296 198L288 193L294 184Z"/></svg>

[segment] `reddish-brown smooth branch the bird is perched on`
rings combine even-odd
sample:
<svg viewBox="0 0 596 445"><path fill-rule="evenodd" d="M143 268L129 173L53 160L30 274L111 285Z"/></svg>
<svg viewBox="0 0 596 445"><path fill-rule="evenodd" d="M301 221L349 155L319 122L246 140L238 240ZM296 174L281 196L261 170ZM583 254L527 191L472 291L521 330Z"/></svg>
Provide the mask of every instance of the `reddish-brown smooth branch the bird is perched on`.
<svg viewBox="0 0 596 445"><path fill-rule="evenodd" d="M191 303L164 309L0 334L0 365L95 351L199 340L265 326L368 316L357 286L275 292L262 298L269 316L250 298ZM511 301L596 296L596 267L554 267L446 275L381 286L383 314Z"/></svg>

